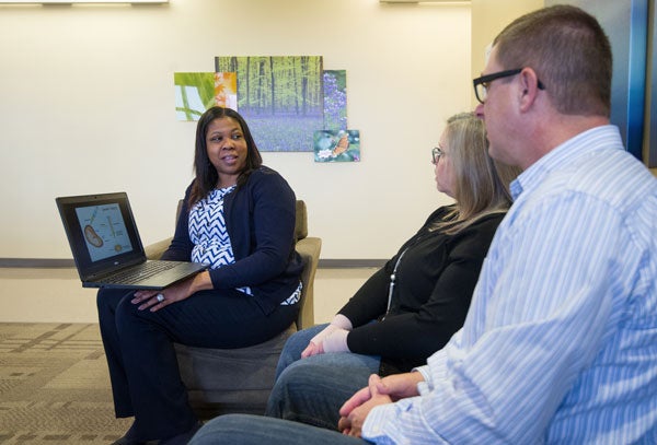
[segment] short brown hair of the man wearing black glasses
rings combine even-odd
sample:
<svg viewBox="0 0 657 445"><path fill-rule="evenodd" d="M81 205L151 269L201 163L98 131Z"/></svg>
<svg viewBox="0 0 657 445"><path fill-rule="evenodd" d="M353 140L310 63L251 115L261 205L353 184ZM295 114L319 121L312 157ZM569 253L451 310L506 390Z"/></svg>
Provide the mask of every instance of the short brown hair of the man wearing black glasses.
<svg viewBox="0 0 657 445"><path fill-rule="evenodd" d="M493 45L503 69L537 72L560 113L609 117L611 45L592 15L572 5L540 9L511 22Z"/></svg>

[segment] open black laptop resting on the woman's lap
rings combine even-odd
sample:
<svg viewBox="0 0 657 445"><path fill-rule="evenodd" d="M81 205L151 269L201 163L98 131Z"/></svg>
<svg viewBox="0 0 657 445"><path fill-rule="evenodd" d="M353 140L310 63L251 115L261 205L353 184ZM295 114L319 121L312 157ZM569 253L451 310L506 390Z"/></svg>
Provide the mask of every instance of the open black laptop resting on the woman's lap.
<svg viewBox="0 0 657 445"><path fill-rule="evenodd" d="M125 192L56 198L83 288L164 289L205 269L147 260Z"/></svg>

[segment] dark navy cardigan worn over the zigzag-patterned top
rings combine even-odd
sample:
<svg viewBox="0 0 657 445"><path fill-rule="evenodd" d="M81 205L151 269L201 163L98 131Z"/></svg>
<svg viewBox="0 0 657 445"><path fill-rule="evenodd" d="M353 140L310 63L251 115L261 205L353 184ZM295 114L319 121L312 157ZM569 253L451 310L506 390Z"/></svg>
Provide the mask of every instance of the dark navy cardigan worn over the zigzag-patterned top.
<svg viewBox="0 0 657 445"><path fill-rule="evenodd" d="M185 199L171 245L162 259L189 261L188 198ZM209 271L216 291L250 286L265 314L299 285L302 259L295 250L296 197L277 172L262 166L223 199L223 216L235 262Z"/></svg>

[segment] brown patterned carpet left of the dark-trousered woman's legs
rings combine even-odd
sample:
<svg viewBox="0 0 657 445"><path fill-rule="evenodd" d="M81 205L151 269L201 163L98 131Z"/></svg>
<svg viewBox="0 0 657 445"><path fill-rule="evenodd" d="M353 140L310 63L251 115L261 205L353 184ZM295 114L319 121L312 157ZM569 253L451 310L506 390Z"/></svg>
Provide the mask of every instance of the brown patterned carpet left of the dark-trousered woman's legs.
<svg viewBox="0 0 657 445"><path fill-rule="evenodd" d="M99 326L0 324L0 443L107 444L115 419Z"/></svg>

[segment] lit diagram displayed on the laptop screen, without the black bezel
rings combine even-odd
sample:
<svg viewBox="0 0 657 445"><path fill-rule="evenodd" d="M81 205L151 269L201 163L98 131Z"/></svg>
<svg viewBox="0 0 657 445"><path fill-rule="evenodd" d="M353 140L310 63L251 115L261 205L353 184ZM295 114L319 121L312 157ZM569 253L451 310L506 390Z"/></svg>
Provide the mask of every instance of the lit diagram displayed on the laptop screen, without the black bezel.
<svg viewBox="0 0 657 445"><path fill-rule="evenodd" d="M76 208L92 261L132 251L118 203Z"/></svg>

